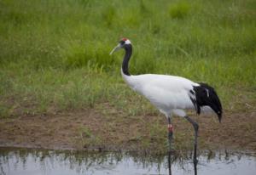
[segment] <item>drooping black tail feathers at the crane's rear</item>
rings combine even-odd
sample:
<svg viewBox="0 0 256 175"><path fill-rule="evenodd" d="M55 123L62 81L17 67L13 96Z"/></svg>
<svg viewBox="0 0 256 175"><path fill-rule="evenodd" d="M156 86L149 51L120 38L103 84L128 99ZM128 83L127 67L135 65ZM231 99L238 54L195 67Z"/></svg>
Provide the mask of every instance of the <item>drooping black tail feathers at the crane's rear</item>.
<svg viewBox="0 0 256 175"><path fill-rule="evenodd" d="M200 86L193 88L195 92L195 99L193 100L190 98L195 105L197 114L201 113L201 107L209 106L217 114L218 121L221 122L222 105L218 99L217 93L215 92L214 88L210 87L206 83L201 82L199 84Z"/></svg>

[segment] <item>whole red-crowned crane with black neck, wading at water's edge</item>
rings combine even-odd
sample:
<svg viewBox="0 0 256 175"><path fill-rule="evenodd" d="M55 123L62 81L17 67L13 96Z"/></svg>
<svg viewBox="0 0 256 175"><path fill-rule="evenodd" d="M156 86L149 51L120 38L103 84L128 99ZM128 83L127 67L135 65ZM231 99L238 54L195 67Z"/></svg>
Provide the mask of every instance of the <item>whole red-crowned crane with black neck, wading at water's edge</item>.
<svg viewBox="0 0 256 175"><path fill-rule="evenodd" d="M195 110L198 115L201 114L201 111L210 110L216 113L218 121L221 122L223 109L215 89L207 83L192 82L182 76L158 74L131 75L129 72L129 61L132 54L132 45L128 38L120 39L118 45L110 52L110 55L121 48L125 50L121 66L123 79L131 89L143 95L160 110L160 113L166 116L169 151L171 151L172 145L172 116L181 116L194 127L194 162L197 162L196 150L199 125L187 115L186 110Z"/></svg>

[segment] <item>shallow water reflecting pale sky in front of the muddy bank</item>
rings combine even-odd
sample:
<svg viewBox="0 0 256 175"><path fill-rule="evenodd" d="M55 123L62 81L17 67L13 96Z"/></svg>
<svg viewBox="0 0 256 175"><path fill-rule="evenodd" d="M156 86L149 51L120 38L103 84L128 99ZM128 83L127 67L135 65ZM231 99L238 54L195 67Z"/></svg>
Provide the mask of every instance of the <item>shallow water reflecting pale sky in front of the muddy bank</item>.
<svg viewBox="0 0 256 175"><path fill-rule="evenodd" d="M256 154L205 151L198 175L255 175ZM191 154L172 155L172 175L194 174ZM0 148L0 174L169 174L167 155Z"/></svg>

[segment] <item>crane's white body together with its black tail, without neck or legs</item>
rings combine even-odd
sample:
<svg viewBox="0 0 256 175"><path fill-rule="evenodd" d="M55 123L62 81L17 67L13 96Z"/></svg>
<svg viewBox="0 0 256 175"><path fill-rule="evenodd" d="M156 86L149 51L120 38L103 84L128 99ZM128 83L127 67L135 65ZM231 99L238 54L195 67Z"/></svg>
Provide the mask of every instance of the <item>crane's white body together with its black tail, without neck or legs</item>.
<svg viewBox="0 0 256 175"><path fill-rule="evenodd" d="M201 110L215 111L219 121L221 120L221 104L216 99L214 89L207 84L192 82L181 76L157 74L126 76L123 71L121 74L130 88L147 98L167 118L172 115L184 117L186 116L184 110L195 109L198 114L201 113ZM208 105L207 103L205 105L196 104L196 98L198 100L205 97ZM214 99L216 104L214 104ZM211 101L213 102L211 103Z"/></svg>

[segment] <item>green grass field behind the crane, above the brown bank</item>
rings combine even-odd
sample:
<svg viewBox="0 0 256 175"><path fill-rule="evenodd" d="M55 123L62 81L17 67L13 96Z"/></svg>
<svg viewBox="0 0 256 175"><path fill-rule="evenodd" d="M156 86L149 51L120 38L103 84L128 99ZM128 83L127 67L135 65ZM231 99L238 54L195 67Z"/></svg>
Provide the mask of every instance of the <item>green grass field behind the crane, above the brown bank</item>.
<svg viewBox="0 0 256 175"><path fill-rule="evenodd" d="M153 112L119 75L120 37L134 46L131 73L208 82L224 108L256 104L256 3L234 1L0 2L0 116L108 102ZM124 108L124 107L128 108Z"/></svg>

